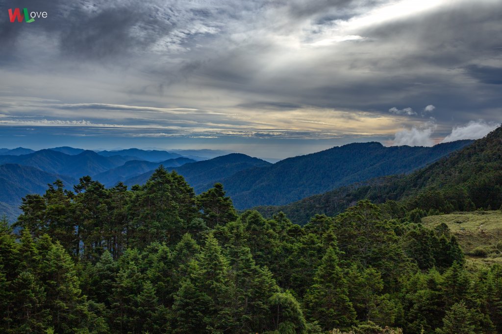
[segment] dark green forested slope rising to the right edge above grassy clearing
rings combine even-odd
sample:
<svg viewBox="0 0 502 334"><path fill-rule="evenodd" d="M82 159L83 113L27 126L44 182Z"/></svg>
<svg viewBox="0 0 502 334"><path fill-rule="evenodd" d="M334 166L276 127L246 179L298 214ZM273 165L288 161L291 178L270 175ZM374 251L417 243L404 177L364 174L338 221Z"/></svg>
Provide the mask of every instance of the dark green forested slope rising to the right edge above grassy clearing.
<svg viewBox="0 0 502 334"><path fill-rule="evenodd" d="M369 180L279 207L258 207L266 216L283 211L305 223L313 214L335 215L361 199L403 201L409 208L440 212L502 204L502 127L410 175Z"/></svg>

